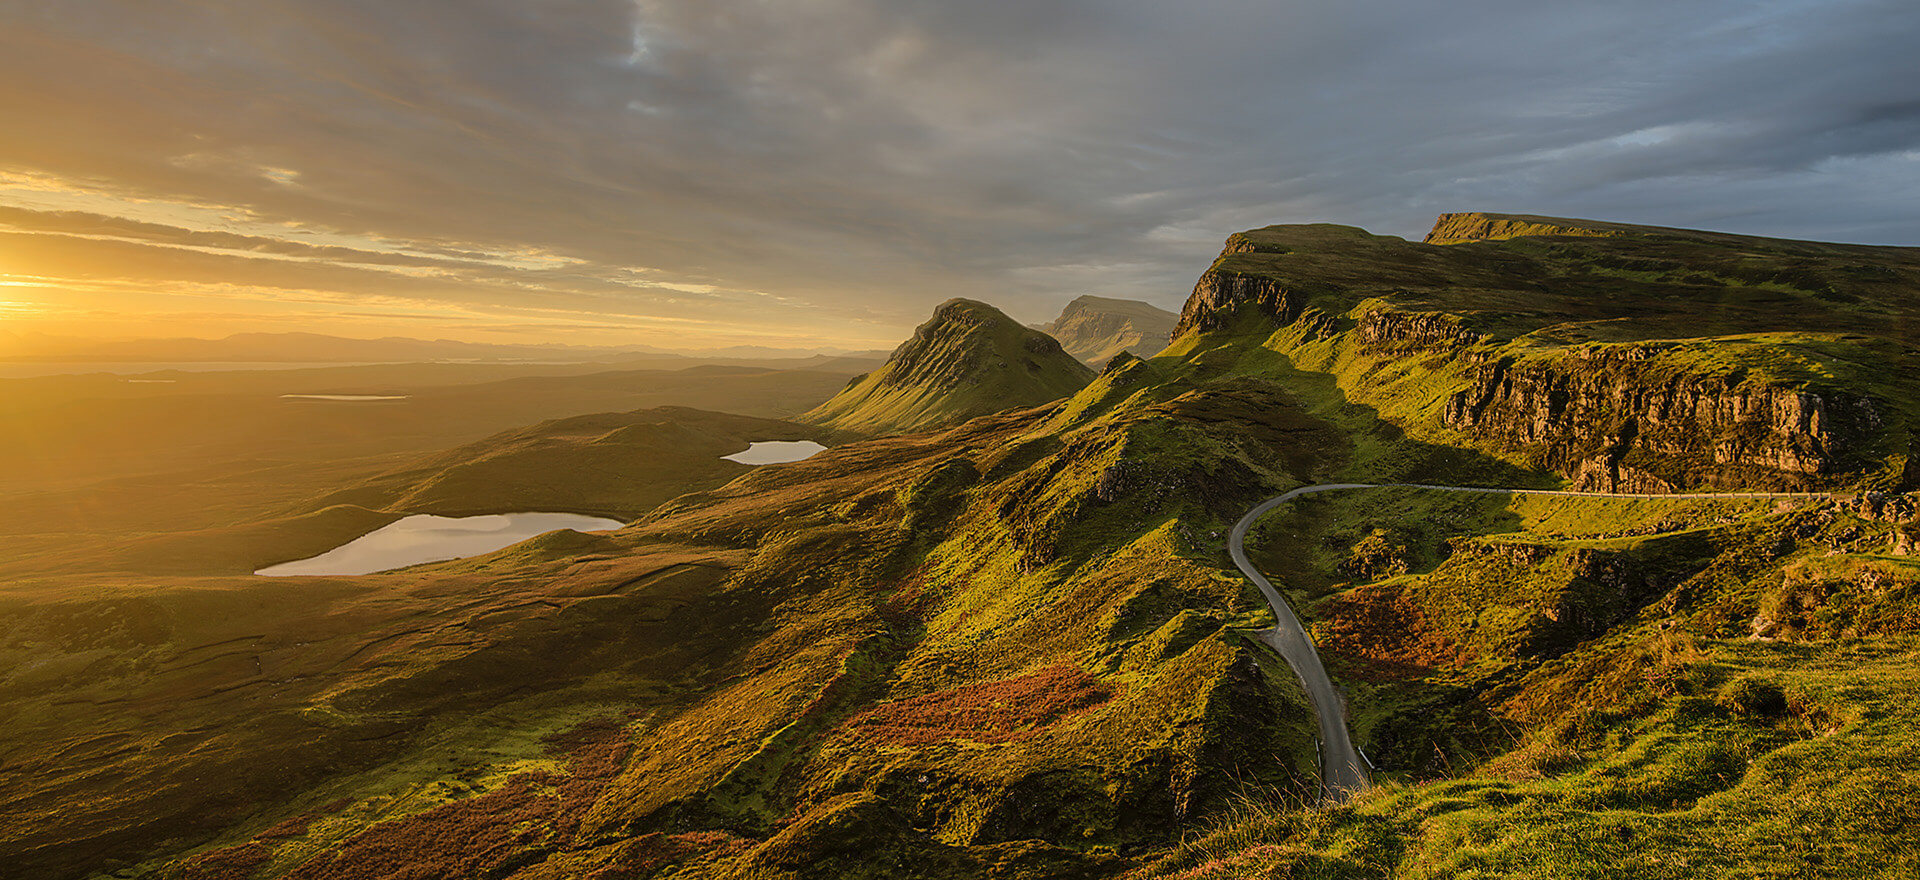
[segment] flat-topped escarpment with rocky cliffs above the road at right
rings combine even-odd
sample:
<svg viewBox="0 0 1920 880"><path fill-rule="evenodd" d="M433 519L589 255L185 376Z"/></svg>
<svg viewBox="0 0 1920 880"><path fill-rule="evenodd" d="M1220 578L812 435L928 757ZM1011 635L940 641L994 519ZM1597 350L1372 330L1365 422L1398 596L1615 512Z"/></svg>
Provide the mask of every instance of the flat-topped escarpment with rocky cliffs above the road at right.
<svg viewBox="0 0 1920 880"><path fill-rule="evenodd" d="M1267 227L1227 240L1175 336L1271 332L1411 434L1584 490L1905 486L1916 271L1912 248L1532 215L1442 215L1427 244Z"/></svg>

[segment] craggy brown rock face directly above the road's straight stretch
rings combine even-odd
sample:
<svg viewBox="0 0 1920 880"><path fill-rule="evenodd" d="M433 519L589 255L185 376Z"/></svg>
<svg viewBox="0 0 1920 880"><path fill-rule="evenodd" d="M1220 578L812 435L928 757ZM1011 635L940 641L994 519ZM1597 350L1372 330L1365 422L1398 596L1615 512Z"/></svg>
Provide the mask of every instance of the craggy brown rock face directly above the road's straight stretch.
<svg viewBox="0 0 1920 880"><path fill-rule="evenodd" d="M1530 452L1592 492L1695 486L1814 488L1855 467L1882 425L1870 398L1695 375L1653 346L1476 369L1446 403L1448 427L1476 444Z"/></svg>

